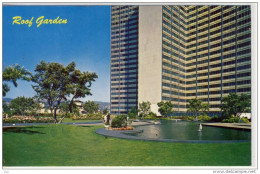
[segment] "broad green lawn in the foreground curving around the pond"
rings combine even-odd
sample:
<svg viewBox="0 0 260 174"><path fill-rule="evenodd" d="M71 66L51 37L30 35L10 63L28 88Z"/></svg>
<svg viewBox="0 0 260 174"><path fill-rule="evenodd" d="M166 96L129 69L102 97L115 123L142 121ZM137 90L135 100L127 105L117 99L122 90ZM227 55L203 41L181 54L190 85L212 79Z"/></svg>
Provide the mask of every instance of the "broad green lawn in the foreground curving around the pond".
<svg viewBox="0 0 260 174"><path fill-rule="evenodd" d="M251 143L188 144L105 138L101 126L3 131L4 166L249 166Z"/></svg>

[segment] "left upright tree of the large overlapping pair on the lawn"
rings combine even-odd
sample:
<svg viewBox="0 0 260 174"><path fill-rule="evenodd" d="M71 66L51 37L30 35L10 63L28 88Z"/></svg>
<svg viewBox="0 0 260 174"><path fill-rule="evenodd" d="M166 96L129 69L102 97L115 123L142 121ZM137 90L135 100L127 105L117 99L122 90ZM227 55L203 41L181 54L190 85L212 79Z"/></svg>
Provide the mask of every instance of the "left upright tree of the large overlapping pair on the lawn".
<svg viewBox="0 0 260 174"><path fill-rule="evenodd" d="M36 74L33 76L32 85L37 93L37 97L45 99L48 103L49 109L57 123L57 109L59 108L62 100L65 100L67 94L67 86L69 85L69 75L72 73L71 64L67 67L59 63L46 63L41 61L36 66Z"/></svg>

